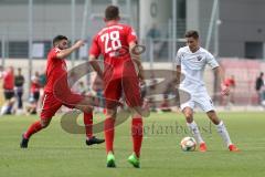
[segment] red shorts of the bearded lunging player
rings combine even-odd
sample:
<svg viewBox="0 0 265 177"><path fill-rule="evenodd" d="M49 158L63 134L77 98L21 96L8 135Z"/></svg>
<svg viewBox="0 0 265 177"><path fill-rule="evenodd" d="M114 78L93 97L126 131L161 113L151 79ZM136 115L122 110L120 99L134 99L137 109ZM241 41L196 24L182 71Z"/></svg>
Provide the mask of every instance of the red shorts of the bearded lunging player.
<svg viewBox="0 0 265 177"><path fill-rule="evenodd" d="M53 93L44 92L41 118L51 119L62 105L74 108L75 104L80 103L83 100L83 96L80 94L68 93L67 100L70 100L71 102L60 101L54 96Z"/></svg>

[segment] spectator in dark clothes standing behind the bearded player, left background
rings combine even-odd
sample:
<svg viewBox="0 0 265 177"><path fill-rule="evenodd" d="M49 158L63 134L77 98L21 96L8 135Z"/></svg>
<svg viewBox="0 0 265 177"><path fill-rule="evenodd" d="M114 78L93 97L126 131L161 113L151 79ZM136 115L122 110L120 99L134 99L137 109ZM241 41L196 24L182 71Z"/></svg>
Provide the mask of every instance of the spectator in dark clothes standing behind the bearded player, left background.
<svg viewBox="0 0 265 177"><path fill-rule="evenodd" d="M18 75L14 76L14 86L15 86L15 95L18 98L18 111L23 110L23 85L24 85L24 76L21 74L21 67L18 69Z"/></svg>

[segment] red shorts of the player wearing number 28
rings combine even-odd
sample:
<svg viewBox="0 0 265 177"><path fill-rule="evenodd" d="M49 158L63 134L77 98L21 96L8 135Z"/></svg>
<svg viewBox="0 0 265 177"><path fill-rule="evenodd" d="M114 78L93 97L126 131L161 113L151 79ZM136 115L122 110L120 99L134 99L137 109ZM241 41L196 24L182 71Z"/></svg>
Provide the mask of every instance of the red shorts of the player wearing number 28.
<svg viewBox="0 0 265 177"><path fill-rule="evenodd" d="M106 107L114 108L121 96L129 107L142 105L139 80L137 76L125 76L105 81L104 96L106 98ZM116 101L116 103L114 102Z"/></svg>

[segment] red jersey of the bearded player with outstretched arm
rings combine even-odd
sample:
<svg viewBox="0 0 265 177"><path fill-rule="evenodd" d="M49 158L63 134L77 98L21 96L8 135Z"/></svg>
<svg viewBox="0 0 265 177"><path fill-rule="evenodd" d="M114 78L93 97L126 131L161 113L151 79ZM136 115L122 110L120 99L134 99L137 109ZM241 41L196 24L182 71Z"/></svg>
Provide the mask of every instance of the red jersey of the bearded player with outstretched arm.
<svg viewBox="0 0 265 177"><path fill-rule="evenodd" d="M49 54L47 54L47 64L46 64L46 85L44 87L44 91L47 93L53 92L53 86L55 82L60 79L62 80L62 75L64 76L64 80L62 80L62 84L66 84L65 86L68 87L67 85L67 66L66 62L64 59L57 59L56 54L61 50L57 48L53 48Z"/></svg>

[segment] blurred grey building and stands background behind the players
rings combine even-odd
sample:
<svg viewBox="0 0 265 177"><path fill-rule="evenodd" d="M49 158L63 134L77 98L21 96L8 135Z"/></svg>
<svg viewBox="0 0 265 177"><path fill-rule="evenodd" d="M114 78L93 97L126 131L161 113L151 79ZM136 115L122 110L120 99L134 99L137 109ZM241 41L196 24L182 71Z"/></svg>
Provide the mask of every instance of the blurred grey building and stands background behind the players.
<svg viewBox="0 0 265 177"><path fill-rule="evenodd" d="M22 100L34 92L34 76L36 82L43 80L38 85L43 87L46 54L55 35L87 42L68 59L70 69L87 61L93 35L104 27L104 10L112 3L119 6L121 22L132 25L139 43L146 45L146 69L174 69L186 31L198 30L201 45L221 63L232 90L229 98L220 96L219 81L206 69L204 80L215 104L263 110L264 0L0 0L0 64L3 73L13 66L14 76L21 67ZM87 87L89 81L84 81Z"/></svg>

